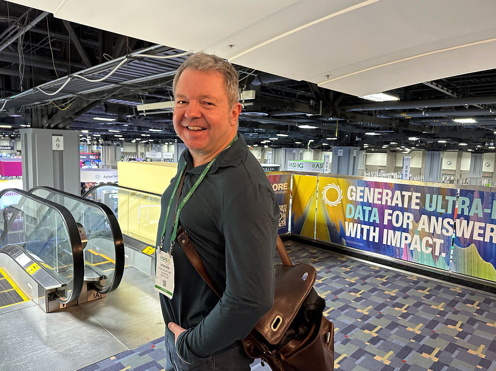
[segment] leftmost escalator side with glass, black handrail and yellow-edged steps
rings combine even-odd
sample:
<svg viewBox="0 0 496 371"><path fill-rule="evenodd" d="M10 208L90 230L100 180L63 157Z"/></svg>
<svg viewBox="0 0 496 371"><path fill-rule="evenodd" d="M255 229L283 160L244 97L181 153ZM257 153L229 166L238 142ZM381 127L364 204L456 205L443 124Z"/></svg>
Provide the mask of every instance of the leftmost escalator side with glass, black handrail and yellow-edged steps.
<svg viewBox="0 0 496 371"><path fill-rule="evenodd" d="M2 190L0 206L1 306L30 297L48 313L75 303L85 268L69 210L19 189Z"/></svg>

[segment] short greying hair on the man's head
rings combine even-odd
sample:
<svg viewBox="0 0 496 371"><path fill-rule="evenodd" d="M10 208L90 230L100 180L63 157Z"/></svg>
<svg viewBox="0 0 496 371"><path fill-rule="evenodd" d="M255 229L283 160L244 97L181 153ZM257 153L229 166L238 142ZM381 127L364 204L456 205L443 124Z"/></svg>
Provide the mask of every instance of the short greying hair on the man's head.
<svg viewBox="0 0 496 371"><path fill-rule="evenodd" d="M226 88L229 106L233 107L240 100L240 94L238 92L238 71L234 69L233 65L224 61L222 58L217 57L214 54L206 54L203 52L190 54L186 61L178 68L172 82L172 93L174 95L176 95L176 86L179 77L186 69L200 72L218 72L224 77L224 86Z"/></svg>

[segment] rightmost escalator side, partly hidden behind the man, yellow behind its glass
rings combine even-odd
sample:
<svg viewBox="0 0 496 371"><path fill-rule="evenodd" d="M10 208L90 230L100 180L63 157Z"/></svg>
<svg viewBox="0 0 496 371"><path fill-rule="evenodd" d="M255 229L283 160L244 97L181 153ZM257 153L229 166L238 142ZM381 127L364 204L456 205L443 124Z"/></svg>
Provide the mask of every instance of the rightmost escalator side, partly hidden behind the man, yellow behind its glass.
<svg viewBox="0 0 496 371"><path fill-rule="evenodd" d="M161 195L117 184L100 184L84 198L107 205L124 235L127 265L155 276L155 238L160 218Z"/></svg>

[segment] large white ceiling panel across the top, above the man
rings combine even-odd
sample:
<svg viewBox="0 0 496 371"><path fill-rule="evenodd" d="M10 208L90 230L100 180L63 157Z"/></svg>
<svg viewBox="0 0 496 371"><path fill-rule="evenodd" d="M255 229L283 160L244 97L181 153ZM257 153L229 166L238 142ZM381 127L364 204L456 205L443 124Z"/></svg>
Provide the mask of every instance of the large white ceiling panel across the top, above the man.
<svg viewBox="0 0 496 371"><path fill-rule="evenodd" d="M13 2L358 96L496 68L496 0Z"/></svg>

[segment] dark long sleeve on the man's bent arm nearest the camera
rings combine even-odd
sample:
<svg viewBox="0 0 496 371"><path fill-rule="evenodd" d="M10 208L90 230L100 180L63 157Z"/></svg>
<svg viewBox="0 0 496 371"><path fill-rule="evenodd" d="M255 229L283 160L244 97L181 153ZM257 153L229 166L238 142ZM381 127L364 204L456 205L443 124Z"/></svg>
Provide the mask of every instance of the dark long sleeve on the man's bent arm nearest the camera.
<svg viewBox="0 0 496 371"><path fill-rule="evenodd" d="M187 363L244 339L273 304L279 207L266 185L242 188L220 217L226 290L213 310L177 341L178 354Z"/></svg>

